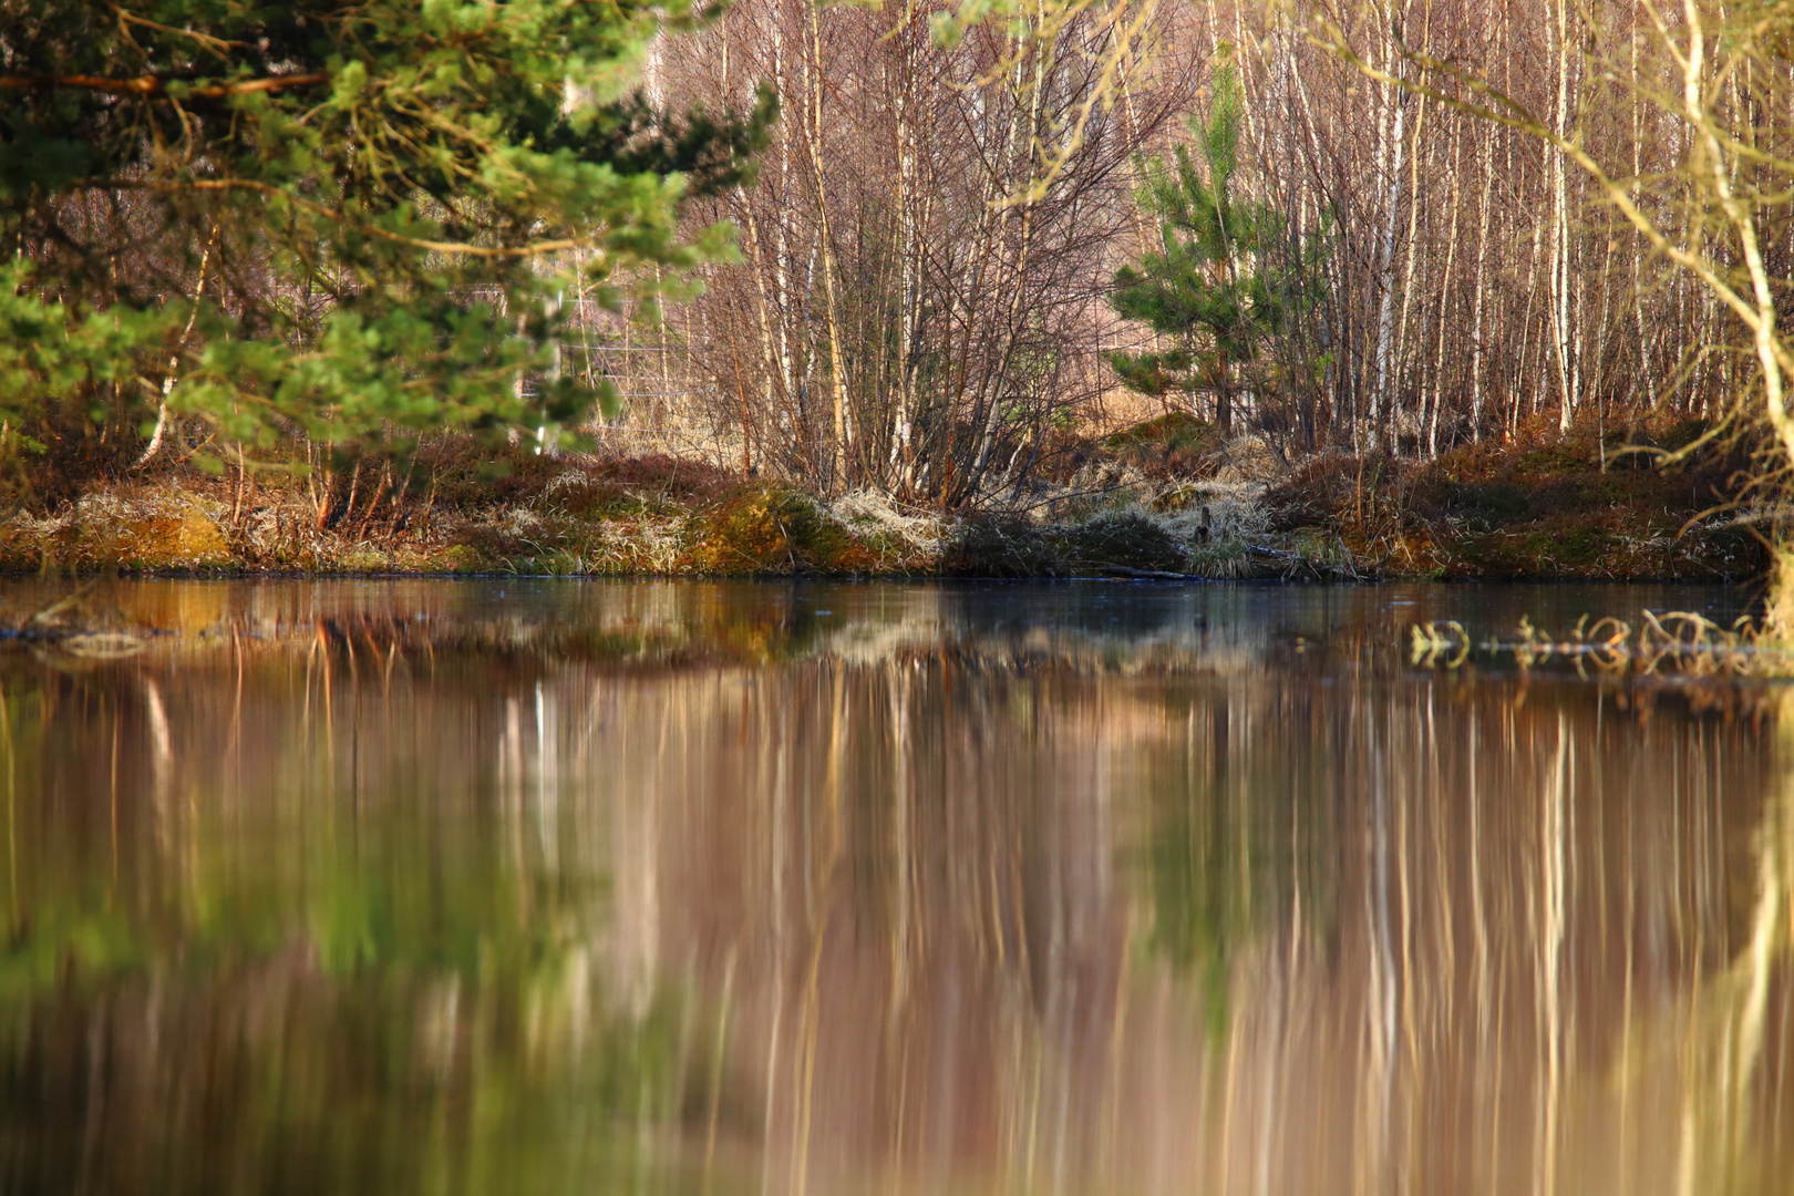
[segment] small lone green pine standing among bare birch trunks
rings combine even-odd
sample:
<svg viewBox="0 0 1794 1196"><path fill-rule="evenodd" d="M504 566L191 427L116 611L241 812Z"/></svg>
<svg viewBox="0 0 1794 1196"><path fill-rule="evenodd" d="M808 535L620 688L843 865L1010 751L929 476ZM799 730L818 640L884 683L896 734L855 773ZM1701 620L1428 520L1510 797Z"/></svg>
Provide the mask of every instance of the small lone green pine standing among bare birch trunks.
<svg viewBox="0 0 1794 1196"><path fill-rule="evenodd" d="M1109 305L1173 341L1163 353L1110 353L1121 382L1143 394L1215 391L1215 421L1232 425L1232 371L1256 362L1320 299L1326 228L1292 235L1270 203L1234 194L1240 165L1240 75L1215 72L1206 113L1189 118L1202 169L1184 145L1141 163L1139 204L1159 221L1159 249L1116 271ZM1207 178L1204 178L1204 174Z"/></svg>

